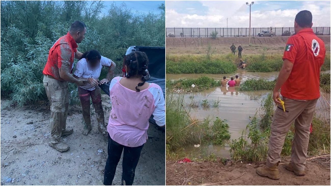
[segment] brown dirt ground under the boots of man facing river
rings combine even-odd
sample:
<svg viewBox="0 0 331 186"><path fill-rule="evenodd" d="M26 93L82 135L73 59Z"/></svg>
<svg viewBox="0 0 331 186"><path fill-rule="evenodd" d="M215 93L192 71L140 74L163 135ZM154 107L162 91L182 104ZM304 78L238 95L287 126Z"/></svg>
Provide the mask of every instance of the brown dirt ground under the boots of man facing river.
<svg viewBox="0 0 331 186"><path fill-rule="evenodd" d="M305 176L295 176L282 162L279 180L259 176L256 168L262 164L168 162L166 185L330 185L329 161L330 158L307 161Z"/></svg>

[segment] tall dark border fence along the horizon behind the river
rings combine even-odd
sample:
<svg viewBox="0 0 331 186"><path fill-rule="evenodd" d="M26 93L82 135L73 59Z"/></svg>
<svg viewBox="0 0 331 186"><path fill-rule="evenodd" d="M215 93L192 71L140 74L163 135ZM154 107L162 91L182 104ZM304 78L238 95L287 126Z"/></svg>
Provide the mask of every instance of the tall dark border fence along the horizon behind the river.
<svg viewBox="0 0 331 186"><path fill-rule="evenodd" d="M316 35L330 35L330 27L312 27ZM254 27L251 28L251 36L258 36L262 31L270 31L273 36L291 36L294 27ZM166 37L248 37L249 28L166 28Z"/></svg>

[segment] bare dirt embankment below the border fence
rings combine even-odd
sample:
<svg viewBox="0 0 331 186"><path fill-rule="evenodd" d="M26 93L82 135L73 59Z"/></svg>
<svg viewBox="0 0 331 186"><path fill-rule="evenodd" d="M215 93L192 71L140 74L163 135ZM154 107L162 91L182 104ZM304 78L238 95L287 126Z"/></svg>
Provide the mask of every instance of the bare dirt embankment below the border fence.
<svg viewBox="0 0 331 186"><path fill-rule="evenodd" d="M325 43L326 50L330 51L330 36L319 36ZM212 51L216 54L230 53L232 43L238 48L243 47L243 54L283 53L286 41L289 37L252 37L249 46L248 37L218 37L216 39L207 37L167 37L167 54L206 54L208 45L212 46Z"/></svg>

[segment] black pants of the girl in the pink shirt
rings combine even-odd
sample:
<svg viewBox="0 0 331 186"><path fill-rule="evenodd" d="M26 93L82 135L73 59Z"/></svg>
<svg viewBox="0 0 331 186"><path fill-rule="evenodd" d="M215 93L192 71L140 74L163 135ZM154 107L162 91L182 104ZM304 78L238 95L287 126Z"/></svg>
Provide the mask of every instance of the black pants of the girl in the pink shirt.
<svg viewBox="0 0 331 186"><path fill-rule="evenodd" d="M116 167L121 158L124 148L122 161L122 184L132 185L134 180L134 172L136 170L141 150L144 145L139 147L126 147L114 141L108 135L108 159L105 167L104 185L112 185L116 172Z"/></svg>

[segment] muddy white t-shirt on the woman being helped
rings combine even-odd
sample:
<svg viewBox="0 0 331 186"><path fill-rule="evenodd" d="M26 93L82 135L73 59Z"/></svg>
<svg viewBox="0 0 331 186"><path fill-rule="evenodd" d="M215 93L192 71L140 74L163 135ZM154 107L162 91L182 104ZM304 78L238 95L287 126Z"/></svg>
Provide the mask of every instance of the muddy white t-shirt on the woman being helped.
<svg viewBox="0 0 331 186"><path fill-rule="evenodd" d="M96 68L95 70L90 70L87 67L87 61L85 58L79 60L76 64L76 70L73 74L75 74L77 77L81 77L81 78L93 78L93 79L99 79L100 77L100 73L101 73L101 69L102 67L110 67L112 65L112 63L114 63L112 60L101 56L100 59L100 66L98 68ZM90 83L87 83L85 86L81 86L81 88L85 89L85 90L94 90L95 87L93 87Z"/></svg>

